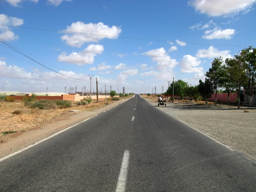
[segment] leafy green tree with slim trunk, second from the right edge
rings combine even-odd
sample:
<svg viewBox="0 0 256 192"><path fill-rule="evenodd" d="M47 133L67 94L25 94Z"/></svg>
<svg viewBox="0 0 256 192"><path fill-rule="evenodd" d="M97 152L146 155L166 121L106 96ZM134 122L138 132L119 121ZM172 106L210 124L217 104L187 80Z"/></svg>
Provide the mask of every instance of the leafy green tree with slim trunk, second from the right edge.
<svg viewBox="0 0 256 192"><path fill-rule="evenodd" d="M238 92L238 109L240 108L241 98L240 90L246 84L246 74L245 74L245 62L241 60L241 57L236 55L234 58L225 60L227 65L227 74L230 81L230 84L234 86L233 88L237 89Z"/></svg>

